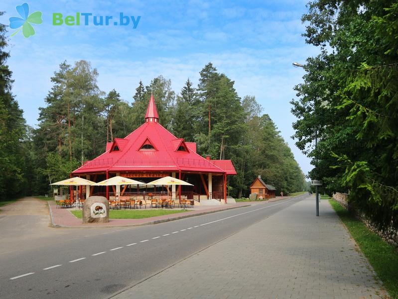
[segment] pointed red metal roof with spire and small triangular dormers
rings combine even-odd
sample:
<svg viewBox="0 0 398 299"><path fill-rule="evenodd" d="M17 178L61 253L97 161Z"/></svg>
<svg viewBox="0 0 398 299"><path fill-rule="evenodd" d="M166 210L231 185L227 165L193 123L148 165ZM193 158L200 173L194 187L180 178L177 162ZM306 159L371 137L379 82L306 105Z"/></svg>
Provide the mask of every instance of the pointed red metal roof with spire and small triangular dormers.
<svg viewBox="0 0 398 299"><path fill-rule="evenodd" d="M196 153L196 144L184 143L157 121L148 121L148 118L156 117L156 106L151 96L145 123L124 139L115 139L114 144L118 145L119 150L111 150L114 146L107 145L106 152L72 173L182 170L236 174L230 160L221 160L220 163L218 160L206 160ZM146 141L149 141L154 149L142 149L142 146L147 144ZM187 151L177 150L183 143Z"/></svg>

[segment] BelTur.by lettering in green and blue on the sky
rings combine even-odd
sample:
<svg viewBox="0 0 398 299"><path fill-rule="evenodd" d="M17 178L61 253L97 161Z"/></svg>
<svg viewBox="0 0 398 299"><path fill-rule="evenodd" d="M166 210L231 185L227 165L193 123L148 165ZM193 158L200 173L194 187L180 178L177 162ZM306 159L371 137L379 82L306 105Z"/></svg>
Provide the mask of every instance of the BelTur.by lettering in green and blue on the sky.
<svg viewBox="0 0 398 299"><path fill-rule="evenodd" d="M129 16L124 15L123 12L119 13L119 16L115 18L112 15L93 15L91 12L76 12L76 15L67 15L65 17L59 12L53 12L52 14L52 24L54 26L63 24L67 26L88 26L90 24L95 26L128 26L131 24L133 29L135 29L140 19L140 15Z"/></svg>

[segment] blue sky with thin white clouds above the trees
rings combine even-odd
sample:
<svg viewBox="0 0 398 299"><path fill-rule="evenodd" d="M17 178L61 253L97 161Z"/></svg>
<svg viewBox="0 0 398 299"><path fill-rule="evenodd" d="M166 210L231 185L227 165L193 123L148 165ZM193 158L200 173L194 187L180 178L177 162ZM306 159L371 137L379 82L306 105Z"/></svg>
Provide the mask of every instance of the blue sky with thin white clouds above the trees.
<svg viewBox="0 0 398 299"><path fill-rule="evenodd" d="M0 22L18 16L15 6L24 1L6 0ZM292 90L304 71L292 67L305 62L317 49L306 45L300 17L306 0L279 1L153 1L85 0L28 1L30 13L42 11L36 34L11 37L8 65L13 72L13 93L24 110L27 124L35 126L38 108L51 88L50 77L64 60L86 59L99 72L98 85L115 88L131 102L141 79L145 85L158 75L170 79L179 92L187 78L195 84L209 61L235 81L238 94L256 96L263 113L270 115L289 144L304 173L312 165L290 138L294 132L290 113ZM53 26L52 13L124 15L141 18L136 29L128 26ZM9 29L8 35L15 30Z"/></svg>

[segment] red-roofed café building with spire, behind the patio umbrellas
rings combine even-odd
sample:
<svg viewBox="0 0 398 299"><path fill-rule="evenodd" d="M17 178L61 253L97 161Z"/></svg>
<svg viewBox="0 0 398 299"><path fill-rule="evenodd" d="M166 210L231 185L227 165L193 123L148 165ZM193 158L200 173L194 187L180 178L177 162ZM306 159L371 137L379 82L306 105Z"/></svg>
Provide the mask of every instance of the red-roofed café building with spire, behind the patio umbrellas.
<svg viewBox="0 0 398 299"><path fill-rule="evenodd" d="M176 192L173 196L175 194L176 197L182 195L188 199L226 200L227 175L234 175L236 171L231 160L204 158L196 153L196 143L185 142L162 127L159 124L155 101L151 96L145 122L139 128L123 139L115 138L113 143L107 144L103 154L85 162L72 174L94 181L121 175L144 182L173 176L194 185L179 187L178 191L173 190ZM104 187L92 186L90 193L104 192L100 188ZM135 193L141 191L142 189L137 189ZM112 196L109 190L106 193L108 198ZM124 188L120 195L128 194L128 190Z"/></svg>

